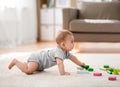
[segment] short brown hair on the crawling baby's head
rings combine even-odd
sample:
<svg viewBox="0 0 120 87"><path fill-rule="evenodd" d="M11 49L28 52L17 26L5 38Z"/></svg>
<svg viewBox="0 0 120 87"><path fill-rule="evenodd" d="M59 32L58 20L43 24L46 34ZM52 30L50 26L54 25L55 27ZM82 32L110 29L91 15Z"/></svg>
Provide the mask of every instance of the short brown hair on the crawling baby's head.
<svg viewBox="0 0 120 87"><path fill-rule="evenodd" d="M70 35L73 36L72 32L68 31L68 30L61 30L59 31L57 37L56 37L56 43L60 44L61 42L66 40L66 37Z"/></svg>

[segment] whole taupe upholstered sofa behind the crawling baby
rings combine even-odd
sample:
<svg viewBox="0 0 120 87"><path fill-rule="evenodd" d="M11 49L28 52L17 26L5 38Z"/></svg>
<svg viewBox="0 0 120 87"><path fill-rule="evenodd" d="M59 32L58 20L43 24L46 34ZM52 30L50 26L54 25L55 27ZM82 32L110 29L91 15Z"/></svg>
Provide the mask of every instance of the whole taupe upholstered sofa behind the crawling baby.
<svg viewBox="0 0 120 87"><path fill-rule="evenodd" d="M63 9L63 28L75 41L120 42L120 2L81 2Z"/></svg>

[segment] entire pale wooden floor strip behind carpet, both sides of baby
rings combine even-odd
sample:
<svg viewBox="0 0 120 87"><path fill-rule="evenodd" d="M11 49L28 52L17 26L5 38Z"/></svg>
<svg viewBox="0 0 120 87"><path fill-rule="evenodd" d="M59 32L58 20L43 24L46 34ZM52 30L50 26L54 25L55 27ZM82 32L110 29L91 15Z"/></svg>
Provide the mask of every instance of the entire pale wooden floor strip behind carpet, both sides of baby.
<svg viewBox="0 0 120 87"><path fill-rule="evenodd" d="M11 52L32 52L43 48L55 47L55 42L38 42L15 48L0 48L0 54ZM120 43L75 43L75 52L80 53L120 53Z"/></svg>

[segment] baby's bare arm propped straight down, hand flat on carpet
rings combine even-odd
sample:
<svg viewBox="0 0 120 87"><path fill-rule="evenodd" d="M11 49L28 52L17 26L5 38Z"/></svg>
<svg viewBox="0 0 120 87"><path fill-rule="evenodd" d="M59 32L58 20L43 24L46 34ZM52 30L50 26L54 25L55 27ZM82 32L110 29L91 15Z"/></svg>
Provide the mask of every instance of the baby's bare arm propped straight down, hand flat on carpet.
<svg viewBox="0 0 120 87"><path fill-rule="evenodd" d="M60 75L70 75L69 72L65 72L65 70L64 70L63 60L61 60L60 58L56 58L56 62L57 62L57 65L58 65Z"/></svg>

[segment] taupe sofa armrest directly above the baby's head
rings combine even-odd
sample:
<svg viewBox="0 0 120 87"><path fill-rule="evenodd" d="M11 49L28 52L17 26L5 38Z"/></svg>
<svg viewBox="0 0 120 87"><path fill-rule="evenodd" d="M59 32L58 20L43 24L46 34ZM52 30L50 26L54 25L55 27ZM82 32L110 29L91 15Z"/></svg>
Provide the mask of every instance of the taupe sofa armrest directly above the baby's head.
<svg viewBox="0 0 120 87"><path fill-rule="evenodd" d="M70 21L79 17L79 10L76 8L64 8L63 9L63 28L69 29Z"/></svg>

